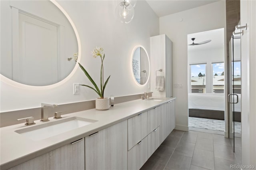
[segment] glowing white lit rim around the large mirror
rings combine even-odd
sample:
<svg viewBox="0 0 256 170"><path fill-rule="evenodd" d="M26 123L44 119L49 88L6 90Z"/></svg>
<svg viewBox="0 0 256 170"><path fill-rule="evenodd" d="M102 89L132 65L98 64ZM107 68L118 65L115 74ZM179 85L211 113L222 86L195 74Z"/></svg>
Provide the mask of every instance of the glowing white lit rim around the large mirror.
<svg viewBox="0 0 256 170"><path fill-rule="evenodd" d="M68 19L68 21L70 22L70 25L72 26L74 33L76 35L76 39L77 39L77 43L78 43L78 59L76 62L76 65L74 67L74 69L71 71L71 73L64 78L63 80L59 81L58 83L52 84L52 85L46 85L46 86L32 86L32 85L25 85L22 83L18 83L16 81L13 81L7 77L5 77L4 75L0 74L0 80L8 85L12 85L15 87L19 87L22 89L30 89L30 90L45 90L45 89L52 89L55 87L58 87L60 85L62 85L63 83L65 83L66 81L68 81L76 72L76 70L78 69L78 62L80 62L80 56L81 56L81 42L80 42L80 38L78 35L78 31L76 29L76 26L74 25L73 21L71 20L70 16L68 15L68 13L62 8L62 6L60 6L60 4L58 4L58 2L56 2L55 0L50 0L57 8L59 8L59 10L66 16L66 18Z"/></svg>

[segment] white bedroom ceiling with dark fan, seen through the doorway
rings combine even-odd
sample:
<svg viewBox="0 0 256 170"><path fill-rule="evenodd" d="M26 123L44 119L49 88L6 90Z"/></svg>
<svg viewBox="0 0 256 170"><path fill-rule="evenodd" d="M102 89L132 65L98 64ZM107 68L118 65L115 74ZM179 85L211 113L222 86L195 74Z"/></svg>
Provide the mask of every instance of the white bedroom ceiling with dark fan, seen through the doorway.
<svg viewBox="0 0 256 170"><path fill-rule="evenodd" d="M204 42L206 40L212 41L201 45L188 45L188 51L207 50L213 48L224 49L224 28L188 34L188 44L192 43L191 38L196 38L194 43Z"/></svg>

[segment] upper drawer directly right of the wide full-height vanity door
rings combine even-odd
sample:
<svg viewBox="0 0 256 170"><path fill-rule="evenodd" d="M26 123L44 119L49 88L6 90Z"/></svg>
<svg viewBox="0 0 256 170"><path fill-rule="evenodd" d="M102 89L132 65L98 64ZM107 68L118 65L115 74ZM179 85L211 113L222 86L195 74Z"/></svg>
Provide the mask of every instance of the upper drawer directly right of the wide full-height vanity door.
<svg viewBox="0 0 256 170"><path fill-rule="evenodd" d="M128 150L148 135L148 113L128 119Z"/></svg>

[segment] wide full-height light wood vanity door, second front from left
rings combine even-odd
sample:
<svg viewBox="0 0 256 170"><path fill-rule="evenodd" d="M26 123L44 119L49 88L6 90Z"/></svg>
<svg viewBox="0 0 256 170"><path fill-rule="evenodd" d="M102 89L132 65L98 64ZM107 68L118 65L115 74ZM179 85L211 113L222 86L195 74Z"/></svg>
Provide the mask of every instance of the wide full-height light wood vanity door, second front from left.
<svg viewBox="0 0 256 170"><path fill-rule="evenodd" d="M127 120L85 137L86 170L124 170L128 167Z"/></svg>

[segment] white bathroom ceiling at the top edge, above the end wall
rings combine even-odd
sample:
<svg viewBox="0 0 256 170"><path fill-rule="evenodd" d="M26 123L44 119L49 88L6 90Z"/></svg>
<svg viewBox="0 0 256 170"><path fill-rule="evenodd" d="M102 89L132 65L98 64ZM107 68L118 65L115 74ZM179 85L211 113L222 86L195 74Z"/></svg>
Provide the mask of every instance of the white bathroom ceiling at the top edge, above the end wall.
<svg viewBox="0 0 256 170"><path fill-rule="evenodd" d="M146 0L158 17L174 14L218 0Z"/></svg>

